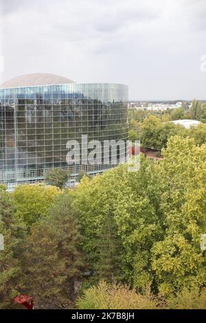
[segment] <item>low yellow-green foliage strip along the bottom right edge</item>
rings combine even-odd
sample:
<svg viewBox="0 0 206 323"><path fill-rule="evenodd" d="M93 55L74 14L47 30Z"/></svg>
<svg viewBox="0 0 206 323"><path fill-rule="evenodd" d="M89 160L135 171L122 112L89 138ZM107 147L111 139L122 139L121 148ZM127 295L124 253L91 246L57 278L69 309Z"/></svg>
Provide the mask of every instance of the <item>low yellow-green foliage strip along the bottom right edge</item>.
<svg viewBox="0 0 206 323"><path fill-rule="evenodd" d="M206 290L183 291L168 299L152 295L150 290L139 294L127 285L101 281L84 290L76 302L78 309L205 309Z"/></svg>

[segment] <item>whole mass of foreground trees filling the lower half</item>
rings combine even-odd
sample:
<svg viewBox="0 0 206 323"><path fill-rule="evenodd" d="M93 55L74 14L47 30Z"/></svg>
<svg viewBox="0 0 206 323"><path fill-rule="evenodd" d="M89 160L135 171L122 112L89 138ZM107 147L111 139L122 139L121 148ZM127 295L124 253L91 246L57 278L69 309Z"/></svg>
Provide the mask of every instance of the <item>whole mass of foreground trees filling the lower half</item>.
<svg viewBox="0 0 206 323"><path fill-rule="evenodd" d="M171 135L161 161L141 155L138 172L121 165L84 176L75 190L1 187L1 308L18 293L34 296L36 308L71 308L77 285L82 309L204 307L206 144L198 131Z"/></svg>

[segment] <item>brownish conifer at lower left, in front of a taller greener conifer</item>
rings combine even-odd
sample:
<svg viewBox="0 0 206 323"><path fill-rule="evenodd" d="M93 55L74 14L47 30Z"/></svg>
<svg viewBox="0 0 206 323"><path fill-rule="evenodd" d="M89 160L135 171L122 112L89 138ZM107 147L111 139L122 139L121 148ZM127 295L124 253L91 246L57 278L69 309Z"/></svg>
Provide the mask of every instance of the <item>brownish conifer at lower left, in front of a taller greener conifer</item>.
<svg viewBox="0 0 206 323"><path fill-rule="evenodd" d="M34 224L25 241L21 290L34 298L36 309L54 309L62 301L65 263L58 257L54 232L45 223Z"/></svg>

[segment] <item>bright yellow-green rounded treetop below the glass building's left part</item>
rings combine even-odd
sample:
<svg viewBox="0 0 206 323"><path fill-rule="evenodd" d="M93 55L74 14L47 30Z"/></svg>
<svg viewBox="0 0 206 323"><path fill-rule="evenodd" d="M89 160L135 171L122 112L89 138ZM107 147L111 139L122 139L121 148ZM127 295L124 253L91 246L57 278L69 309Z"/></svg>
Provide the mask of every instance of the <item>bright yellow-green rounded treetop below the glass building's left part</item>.
<svg viewBox="0 0 206 323"><path fill-rule="evenodd" d="M21 219L28 228L43 216L56 197L61 194L59 188L43 185L17 186L14 190L16 217Z"/></svg>

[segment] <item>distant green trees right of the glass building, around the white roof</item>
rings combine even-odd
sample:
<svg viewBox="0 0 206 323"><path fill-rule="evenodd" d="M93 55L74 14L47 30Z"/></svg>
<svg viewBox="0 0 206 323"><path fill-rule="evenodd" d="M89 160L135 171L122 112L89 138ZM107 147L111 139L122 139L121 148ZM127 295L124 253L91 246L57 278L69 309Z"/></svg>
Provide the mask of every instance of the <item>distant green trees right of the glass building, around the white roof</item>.
<svg viewBox="0 0 206 323"><path fill-rule="evenodd" d="M144 148L154 148L161 151L166 148L168 140L174 135L194 138L195 144L206 143L206 124L192 126L190 129L179 124L173 124L172 120L196 119L206 122L206 104L201 104L198 100L192 102L191 111L187 112L183 108L173 111L129 111L129 139L141 141Z"/></svg>

